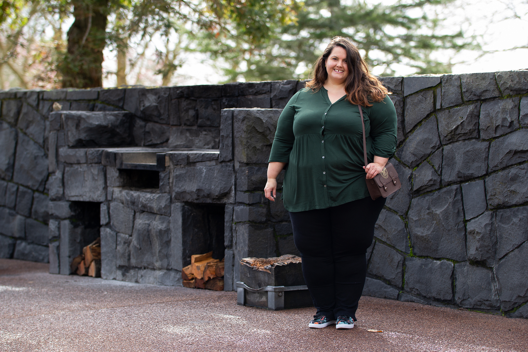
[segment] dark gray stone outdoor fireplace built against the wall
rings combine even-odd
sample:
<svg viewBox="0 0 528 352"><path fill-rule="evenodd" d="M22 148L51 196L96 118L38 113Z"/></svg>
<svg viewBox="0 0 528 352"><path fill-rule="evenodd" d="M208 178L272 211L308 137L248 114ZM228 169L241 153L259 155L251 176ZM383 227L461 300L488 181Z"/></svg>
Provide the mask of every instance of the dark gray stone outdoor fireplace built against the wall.
<svg viewBox="0 0 528 352"><path fill-rule="evenodd" d="M225 258L225 290L241 258L297 254L287 212L261 189L281 110L198 109L191 128L181 120L187 100L177 100L179 126L173 105L167 117L117 107L50 113L51 272L69 274L94 234L102 278L169 286L181 284L192 254ZM195 147L209 139L211 148Z"/></svg>

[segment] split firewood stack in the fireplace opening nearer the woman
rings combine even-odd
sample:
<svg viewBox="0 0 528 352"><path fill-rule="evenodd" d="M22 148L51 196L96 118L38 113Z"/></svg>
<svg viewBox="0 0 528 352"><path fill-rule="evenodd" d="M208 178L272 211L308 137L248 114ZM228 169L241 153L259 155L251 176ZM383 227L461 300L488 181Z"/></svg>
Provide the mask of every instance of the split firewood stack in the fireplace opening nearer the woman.
<svg viewBox="0 0 528 352"><path fill-rule="evenodd" d="M191 255L191 265L182 269L183 286L223 291L224 260L212 258L213 252Z"/></svg>

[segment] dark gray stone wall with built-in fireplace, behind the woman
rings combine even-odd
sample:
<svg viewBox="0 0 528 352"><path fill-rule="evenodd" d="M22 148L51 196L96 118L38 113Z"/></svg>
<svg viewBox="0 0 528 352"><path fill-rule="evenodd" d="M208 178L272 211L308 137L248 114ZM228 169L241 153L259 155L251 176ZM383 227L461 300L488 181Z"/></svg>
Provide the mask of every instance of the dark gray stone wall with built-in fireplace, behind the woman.
<svg viewBox="0 0 528 352"><path fill-rule="evenodd" d="M528 71L382 81L402 189L376 224L363 293L528 317ZM262 189L280 109L302 85L0 92L0 256L67 274L97 208L104 278L177 285L208 241L208 204L223 208L225 289L241 258L296 254ZM157 188L120 171L127 146L165 158Z"/></svg>

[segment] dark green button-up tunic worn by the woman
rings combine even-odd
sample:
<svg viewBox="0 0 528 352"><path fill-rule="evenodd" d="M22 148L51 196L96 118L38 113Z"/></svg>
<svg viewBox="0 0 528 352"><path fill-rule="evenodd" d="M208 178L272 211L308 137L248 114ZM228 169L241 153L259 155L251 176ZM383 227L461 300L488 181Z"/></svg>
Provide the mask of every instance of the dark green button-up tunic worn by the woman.
<svg viewBox="0 0 528 352"><path fill-rule="evenodd" d="M367 159L390 158L397 117L388 96L363 107ZM323 209L369 196L363 169L363 132L357 105L346 96L333 104L328 92L301 89L277 124L269 162L288 163L282 184L286 210Z"/></svg>

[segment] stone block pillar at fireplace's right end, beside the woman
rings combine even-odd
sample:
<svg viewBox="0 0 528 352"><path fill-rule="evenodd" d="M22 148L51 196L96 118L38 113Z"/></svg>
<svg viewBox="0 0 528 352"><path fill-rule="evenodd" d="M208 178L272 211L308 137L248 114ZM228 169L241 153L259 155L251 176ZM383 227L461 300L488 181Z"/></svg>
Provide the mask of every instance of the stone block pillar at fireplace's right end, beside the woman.
<svg viewBox="0 0 528 352"><path fill-rule="evenodd" d="M267 165L281 109L224 109L220 127L220 160L234 163L236 195L226 205L225 270L234 289L242 258L299 254L293 231L277 193L275 202L264 197ZM278 177L280 190L282 173ZM229 225L228 225L229 224Z"/></svg>

